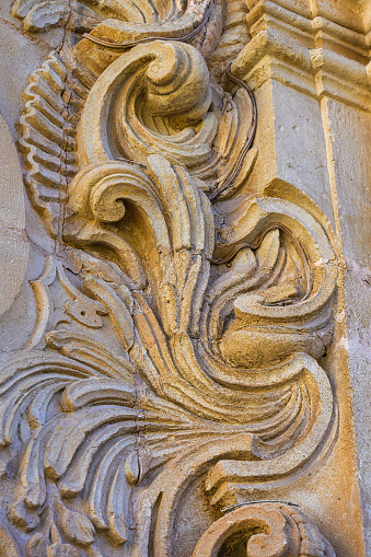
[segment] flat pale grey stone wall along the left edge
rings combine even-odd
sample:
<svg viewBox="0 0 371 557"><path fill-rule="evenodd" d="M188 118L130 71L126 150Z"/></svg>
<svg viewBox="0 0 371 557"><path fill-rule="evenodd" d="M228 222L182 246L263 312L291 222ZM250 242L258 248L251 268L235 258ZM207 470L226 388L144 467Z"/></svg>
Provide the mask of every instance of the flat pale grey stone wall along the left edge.
<svg viewBox="0 0 371 557"><path fill-rule="evenodd" d="M8 0L1 2L0 5L2 76L0 113L9 128L7 131L4 125L1 127L1 137L4 138L1 159L1 222L4 227L2 245L9 233L9 223L14 221L15 228L21 229L18 236L21 235L23 242L26 239L28 241L30 258L27 276L21 287L19 277L24 274L23 266L19 264L19 267L15 267L15 265L20 256L23 262L25 260L26 253L23 253L24 248L22 252L22 245L19 245L20 240L14 240L12 247L8 248L9 252L14 250L14 255L12 253L5 259L8 264L2 267L1 276L1 289L5 292L3 311L8 310L1 321L2 351L23 348L27 335L32 333L36 323L37 310L30 280L39 276L39 265L43 265L40 262L37 264L37 254L42 253L43 248L49 253L54 250L50 239L45 234L38 218L35 218L35 212L31 209L30 201L25 196L20 163L15 160L14 144L11 143L11 138L13 142L18 139L16 124L23 109L22 94L30 73L43 63L50 50L61 47L65 36L61 28L51 30L42 36L25 35L21 21L11 15L11 7L12 2ZM12 259L14 263L11 263Z"/></svg>

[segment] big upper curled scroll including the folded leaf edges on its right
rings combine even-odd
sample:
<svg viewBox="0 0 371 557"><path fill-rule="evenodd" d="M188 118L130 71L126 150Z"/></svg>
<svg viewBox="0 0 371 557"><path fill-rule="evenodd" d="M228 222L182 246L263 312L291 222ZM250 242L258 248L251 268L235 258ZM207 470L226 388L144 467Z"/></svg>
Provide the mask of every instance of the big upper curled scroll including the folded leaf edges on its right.
<svg viewBox="0 0 371 557"><path fill-rule="evenodd" d="M79 124L80 161L124 158L146 166L147 156L159 153L185 164L210 188L235 165L248 134L243 116L248 112L244 90L234 102L210 85L206 62L194 47L160 40L138 45L92 88ZM109 116L103 120L102 114ZM237 183L254 156L256 151L239 169Z"/></svg>

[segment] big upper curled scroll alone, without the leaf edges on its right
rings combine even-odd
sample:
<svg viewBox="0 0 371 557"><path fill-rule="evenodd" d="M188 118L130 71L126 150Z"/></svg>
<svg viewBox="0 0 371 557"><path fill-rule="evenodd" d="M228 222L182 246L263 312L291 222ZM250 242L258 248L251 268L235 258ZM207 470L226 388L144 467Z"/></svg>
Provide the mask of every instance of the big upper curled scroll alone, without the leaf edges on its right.
<svg viewBox="0 0 371 557"><path fill-rule="evenodd" d="M158 152L199 166L210 158L218 128L208 112L211 102L208 69L196 48L161 40L138 45L113 62L90 92L79 125L81 160L90 164L124 156L146 163ZM102 119L103 114L109 116Z"/></svg>

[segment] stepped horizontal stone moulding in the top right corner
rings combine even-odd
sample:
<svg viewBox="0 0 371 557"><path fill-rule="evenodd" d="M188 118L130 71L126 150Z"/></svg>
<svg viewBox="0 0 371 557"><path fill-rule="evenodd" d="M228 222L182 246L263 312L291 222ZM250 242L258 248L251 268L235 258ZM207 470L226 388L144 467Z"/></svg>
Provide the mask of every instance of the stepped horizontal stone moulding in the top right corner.
<svg viewBox="0 0 371 557"><path fill-rule="evenodd" d="M370 37L359 11L344 3L248 1L251 42L232 70L254 89L274 79L316 98L371 109Z"/></svg>

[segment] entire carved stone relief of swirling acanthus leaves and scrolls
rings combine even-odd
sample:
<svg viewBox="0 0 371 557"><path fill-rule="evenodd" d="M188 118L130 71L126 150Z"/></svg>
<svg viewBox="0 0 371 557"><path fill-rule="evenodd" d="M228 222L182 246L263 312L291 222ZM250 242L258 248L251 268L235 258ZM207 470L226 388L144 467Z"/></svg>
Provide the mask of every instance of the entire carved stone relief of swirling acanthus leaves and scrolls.
<svg viewBox="0 0 371 557"><path fill-rule="evenodd" d="M28 31L61 24L26 5ZM334 442L317 360L336 257L314 204L248 190L254 100L212 67L224 8L92 7L102 22L31 76L21 118L25 185L61 255L32 281L26 350L2 361L9 527L27 557L171 557L196 480L219 512ZM262 502L219 519L194 557L240 531L248 555L335 555L300 511Z"/></svg>

